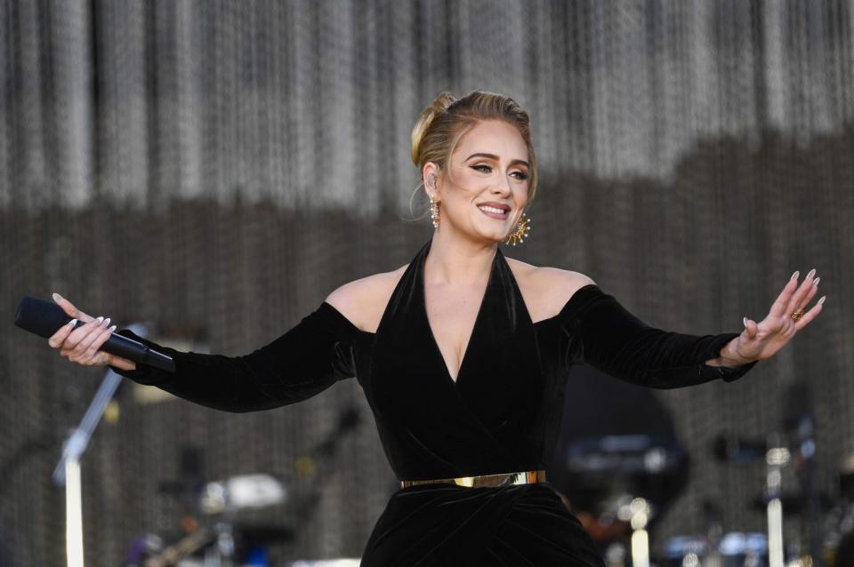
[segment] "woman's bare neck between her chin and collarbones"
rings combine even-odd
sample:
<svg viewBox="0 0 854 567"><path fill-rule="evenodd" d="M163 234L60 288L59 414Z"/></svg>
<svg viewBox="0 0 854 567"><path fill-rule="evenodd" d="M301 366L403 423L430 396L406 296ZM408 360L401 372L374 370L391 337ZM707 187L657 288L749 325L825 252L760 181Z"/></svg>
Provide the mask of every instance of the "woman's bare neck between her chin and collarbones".
<svg viewBox="0 0 854 567"><path fill-rule="evenodd" d="M473 242L437 229L424 259L425 279L437 284L479 284L488 277L497 248L495 242Z"/></svg>

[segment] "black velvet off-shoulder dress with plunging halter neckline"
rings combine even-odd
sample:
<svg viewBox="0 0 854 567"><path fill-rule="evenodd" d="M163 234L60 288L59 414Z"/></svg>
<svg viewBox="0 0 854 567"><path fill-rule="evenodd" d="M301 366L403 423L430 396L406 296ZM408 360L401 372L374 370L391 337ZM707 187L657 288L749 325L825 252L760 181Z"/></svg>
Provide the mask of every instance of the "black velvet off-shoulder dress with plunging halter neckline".
<svg viewBox="0 0 854 567"><path fill-rule="evenodd" d="M590 363L648 387L733 380L755 363L708 366L739 333L689 335L642 323L595 284L533 323L500 249L454 381L424 307L431 241L408 265L375 333L323 302L250 355L172 355L176 371L119 374L226 411L299 402L356 377L391 468L403 480L546 467L560 431L570 365ZM391 495L362 565L601 565L592 539L548 483L463 488L417 485Z"/></svg>

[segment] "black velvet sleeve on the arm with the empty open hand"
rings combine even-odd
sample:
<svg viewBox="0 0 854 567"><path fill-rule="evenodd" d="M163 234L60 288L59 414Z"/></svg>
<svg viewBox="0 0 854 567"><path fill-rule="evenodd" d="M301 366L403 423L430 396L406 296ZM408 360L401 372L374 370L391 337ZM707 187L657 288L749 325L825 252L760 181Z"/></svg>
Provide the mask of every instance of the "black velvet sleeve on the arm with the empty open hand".
<svg viewBox="0 0 854 567"><path fill-rule="evenodd" d="M710 366L705 361L720 356L721 348L740 333L700 336L650 327L596 284L576 291L558 316L568 335L568 359L641 386L729 382L744 376L757 362L734 368Z"/></svg>

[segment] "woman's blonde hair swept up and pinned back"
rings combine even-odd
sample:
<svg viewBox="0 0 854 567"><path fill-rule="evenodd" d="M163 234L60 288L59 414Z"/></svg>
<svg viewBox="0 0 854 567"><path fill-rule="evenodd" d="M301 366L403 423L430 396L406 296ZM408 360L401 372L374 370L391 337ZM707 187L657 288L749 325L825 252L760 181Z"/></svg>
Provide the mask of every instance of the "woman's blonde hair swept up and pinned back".
<svg viewBox="0 0 854 567"><path fill-rule="evenodd" d="M474 91L462 99L450 92L440 92L418 115L412 129L412 163L418 168L419 177L428 162L439 165L445 171L463 134L482 120L504 120L519 131L528 147L528 202L536 194L536 156L531 144L531 129L528 113L508 96L495 92ZM420 180L415 191L421 187ZM410 198L411 201L411 198Z"/></svg>

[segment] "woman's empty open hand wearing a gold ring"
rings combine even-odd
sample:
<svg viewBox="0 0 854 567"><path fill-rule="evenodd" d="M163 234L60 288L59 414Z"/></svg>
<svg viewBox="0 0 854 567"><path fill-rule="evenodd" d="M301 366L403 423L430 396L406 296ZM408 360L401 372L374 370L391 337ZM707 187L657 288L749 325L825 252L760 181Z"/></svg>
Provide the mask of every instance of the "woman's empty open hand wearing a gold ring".
<svg viewBox="0 0 854 567"><path fill-rule="evenodd" d="M770 358L821 313L821 304L824 303L826 296L818 299L816 304L797 320L792 318L794 312L805 309L810 303L810 299L818 291L820 279L813 279L816 270L812 269L803 283L798 285L798 275L799 272L792 275L771 306L769 314L759 323L745 317L745 330L727 345L732 349L731 355L725 352L721 355L733 359L737 356L738 360L746 362Z"/></svg>

